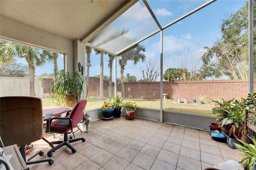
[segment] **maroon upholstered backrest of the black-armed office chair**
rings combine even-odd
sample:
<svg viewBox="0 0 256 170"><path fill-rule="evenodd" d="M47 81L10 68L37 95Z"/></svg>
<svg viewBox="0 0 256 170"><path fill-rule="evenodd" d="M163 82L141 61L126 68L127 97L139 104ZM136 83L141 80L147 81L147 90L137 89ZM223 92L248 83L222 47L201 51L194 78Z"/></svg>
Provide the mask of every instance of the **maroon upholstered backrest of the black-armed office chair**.
<svg viewBox="0 0 256 170"><path fill-rule="evenodd" d="M69 114L69 118L72 119L73 127L75 127L84 117L84 108L87 100L82 99L76 103Z"/></svg>

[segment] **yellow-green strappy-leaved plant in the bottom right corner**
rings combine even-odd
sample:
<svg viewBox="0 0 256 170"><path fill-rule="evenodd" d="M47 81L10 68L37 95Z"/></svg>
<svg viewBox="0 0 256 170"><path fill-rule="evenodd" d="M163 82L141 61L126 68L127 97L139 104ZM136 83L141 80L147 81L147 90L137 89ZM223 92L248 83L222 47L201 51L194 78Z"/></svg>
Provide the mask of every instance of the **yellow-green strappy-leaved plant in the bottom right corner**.
<svg viewBox="0 0 256 170"><path fill-rule="evenodd" d="M240 150L244 156L242 157L241 164L244 165L244 170L255 170L256 169L256 140L251 138L253 144L248 144L242 140L239 140L242 144L234 143L236 148Z"/></svg>

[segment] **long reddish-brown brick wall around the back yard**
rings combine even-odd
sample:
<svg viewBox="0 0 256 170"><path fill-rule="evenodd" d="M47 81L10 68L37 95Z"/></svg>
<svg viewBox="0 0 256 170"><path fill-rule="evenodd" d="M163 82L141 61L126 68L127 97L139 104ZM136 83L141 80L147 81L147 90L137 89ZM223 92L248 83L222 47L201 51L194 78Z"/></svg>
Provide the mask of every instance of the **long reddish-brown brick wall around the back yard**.
<svg viewBox="0 0 256 170"><path fill-rule="evenodd" d="M117 81L117 91L121 89L120 80ZM44 87L44 81L43 81ZM168 99L199 100L200 95L206 99L240 99L248 94L248 80L204 80L204 81L170 81L163 82L163 93L168 93ZM104 97L108 98L108 82L104 81ZM160 98L160 82L124 83L126 98ZM256 91L256 79L254 80ZM99 97L100 79L90 77L88 97ZM114 96L114 83L112 83L112 96Z"/></svg>

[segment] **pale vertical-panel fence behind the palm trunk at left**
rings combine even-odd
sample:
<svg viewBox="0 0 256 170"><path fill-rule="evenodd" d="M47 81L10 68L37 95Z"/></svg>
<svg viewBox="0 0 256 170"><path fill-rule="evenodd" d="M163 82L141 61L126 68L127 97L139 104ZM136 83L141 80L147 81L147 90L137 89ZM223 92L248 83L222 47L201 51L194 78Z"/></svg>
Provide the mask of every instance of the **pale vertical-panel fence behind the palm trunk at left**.
<svg viewBox="0 0 256 170"><path fill-rule="evenodd" d="M35 78L36 97L42 98L42 83ZM0 97L29 96L28 77L0 77Z"/></svg>

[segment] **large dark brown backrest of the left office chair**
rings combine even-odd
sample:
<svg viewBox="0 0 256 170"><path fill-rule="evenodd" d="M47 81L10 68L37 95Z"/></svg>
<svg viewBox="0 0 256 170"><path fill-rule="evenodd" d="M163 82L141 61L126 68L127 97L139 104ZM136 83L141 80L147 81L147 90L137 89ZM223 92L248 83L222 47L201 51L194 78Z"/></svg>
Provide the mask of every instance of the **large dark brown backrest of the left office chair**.
<svg viewBox="0 0 256 170"><path fill-rule="evenodd" d="M0 136L5 146L24 146L42 138L42 101L36 97L0 97Z"/></svg>

